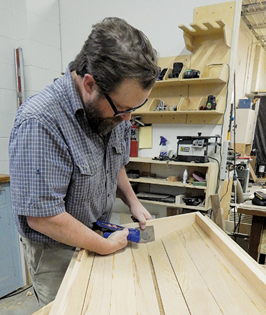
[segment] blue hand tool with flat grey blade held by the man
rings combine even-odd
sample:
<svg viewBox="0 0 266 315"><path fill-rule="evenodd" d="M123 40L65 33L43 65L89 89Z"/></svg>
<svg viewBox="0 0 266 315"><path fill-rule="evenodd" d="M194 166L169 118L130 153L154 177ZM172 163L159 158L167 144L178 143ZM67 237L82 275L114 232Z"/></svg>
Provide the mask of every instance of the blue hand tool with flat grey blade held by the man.
<svg viewBox="0 0 266 315"><path fill-rule="evenodd" d="M107 239L112 232L124 230L124 226L112 224L103 221L96 221L94 228L103 232L103 237ZM141 228L128 228L128 236L126 237L128 241L134 241L135 243L147 243L148 241L154 241L154 227L147 226L145 230Z"/></svg>

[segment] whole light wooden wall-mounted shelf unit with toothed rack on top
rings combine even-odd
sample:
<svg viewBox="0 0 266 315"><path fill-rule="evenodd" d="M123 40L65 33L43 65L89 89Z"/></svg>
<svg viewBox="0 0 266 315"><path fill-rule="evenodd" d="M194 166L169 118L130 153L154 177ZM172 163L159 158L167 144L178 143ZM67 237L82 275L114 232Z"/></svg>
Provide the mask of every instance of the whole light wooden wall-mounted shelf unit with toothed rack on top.
<svg viewBox="0 0 266 315"><path fill-rule="evenodd" d="M228 6L232 7L232 3ZM202 21L202 18L201 15L196 16L196 22L191 24L192 29L179 26L184 31L186 48L191 51L191 55L158 58L158 66L167 69L165 76L163 80L156 81L147 104L133 114L141 116L143 123L223 123L228 95L232 30L230 23L230 27L226 25L228 18L226 22L212 20L214 17L209 21ZM182 71L178 78L169 78L175 62L183 64ZM188 69L200 71L200 77L184 78ZM209 95L216 97L216 109L202 110ZM159 102L164 102L166 111L158 111ZM174 108L177 110L173 111Z"/></svg>

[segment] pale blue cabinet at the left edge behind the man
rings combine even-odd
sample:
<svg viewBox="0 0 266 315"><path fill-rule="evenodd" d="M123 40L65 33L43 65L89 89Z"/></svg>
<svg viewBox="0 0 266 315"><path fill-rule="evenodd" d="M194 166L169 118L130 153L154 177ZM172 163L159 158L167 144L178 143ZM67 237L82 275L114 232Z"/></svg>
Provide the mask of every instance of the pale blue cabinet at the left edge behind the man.
<svg viewBox="0 0 266 315"><path fill-rule="evenodd" d="M10 186L0 176L0 297L22 286L19 237L11 209Z"/></svg>

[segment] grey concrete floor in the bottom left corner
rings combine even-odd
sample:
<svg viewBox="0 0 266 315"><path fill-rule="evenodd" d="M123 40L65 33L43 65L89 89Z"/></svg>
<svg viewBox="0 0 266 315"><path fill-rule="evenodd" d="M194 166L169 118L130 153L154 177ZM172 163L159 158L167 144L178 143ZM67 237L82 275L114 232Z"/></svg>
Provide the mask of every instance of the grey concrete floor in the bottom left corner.
<svg viewBox="0 0 266 315"><path fill-rule="evenodd" d="M17 292L20 292L18 290ZM11 293L13 295L17 292ZM31 315L38 311L37 300L33 288L24 290L12 297L0 300L0 315Z"/></svg>

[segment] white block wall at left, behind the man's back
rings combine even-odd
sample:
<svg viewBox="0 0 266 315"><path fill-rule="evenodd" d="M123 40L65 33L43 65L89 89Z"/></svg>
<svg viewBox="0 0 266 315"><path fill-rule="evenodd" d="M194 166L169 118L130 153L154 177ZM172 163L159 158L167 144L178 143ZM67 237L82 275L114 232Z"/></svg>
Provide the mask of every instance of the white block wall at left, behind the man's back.
<svg viewBox="0 0 266 315"><path fill-rule="evenodd" d="M58 0L0 0L0 173L8 174L8 141L17 112L14 49L22 48L26 97L61 73Z"/></svg>

